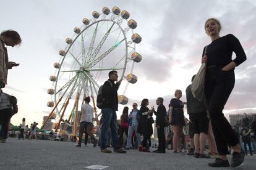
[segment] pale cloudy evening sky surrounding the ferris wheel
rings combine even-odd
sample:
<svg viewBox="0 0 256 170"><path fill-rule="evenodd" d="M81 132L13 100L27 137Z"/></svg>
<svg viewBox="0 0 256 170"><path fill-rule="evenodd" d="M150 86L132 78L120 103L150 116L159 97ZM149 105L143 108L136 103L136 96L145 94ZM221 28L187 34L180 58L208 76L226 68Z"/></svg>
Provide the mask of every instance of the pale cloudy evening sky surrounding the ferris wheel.
<svg viewBox="0 0 256 170"><path fill-rule="evenodd" d="M127 10L138 26L135 32L142 36L136 51L142 62L134 67L138 77L129 85L127 106L140 105L149 99L149 107L157 97L164 98L164 105L174 98L174 91L181 89L186 101L186 87L200 68L203 47L211 40L204 30L208 18L218 18L222 25L220 35L234 34L244 47L247 60L236 68L236 85L224 113L255 113L256 110L256 2L251 1L67 1L67 0L2 0L0 31L16 30L22 38L19 47L7 47L9 60L20 63L9 70L4 92L18 99L19 113L11 123L40 125L43 116L51 111L46 103L51 100L47 89L52 87L49 76L54 75L53 63L58 62L60 49L66 47L65 39L74 34L73 28L82 25L84 17L91 18L93 10L117 6ZM233 54L233 58L236 55ZM107 78L106 78L107 79ZM122 113L119 105L117 117ZM186 110L185 115L186 115ZM187 116L187 115L186 115Z"/></svg>

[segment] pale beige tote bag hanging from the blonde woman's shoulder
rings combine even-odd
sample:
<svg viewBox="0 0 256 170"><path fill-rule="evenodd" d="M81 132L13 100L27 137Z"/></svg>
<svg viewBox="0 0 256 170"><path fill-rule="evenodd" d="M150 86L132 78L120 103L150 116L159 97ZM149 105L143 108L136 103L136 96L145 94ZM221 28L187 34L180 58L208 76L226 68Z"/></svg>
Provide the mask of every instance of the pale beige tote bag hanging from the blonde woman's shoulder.
<svg viewBox="0 0 256 170"><path fill-rule="evenodd" d="M203 53L205 55L207 50L207 46L205 47L205 52ZM205 94L204 89L205 89L205 72L206 72L206 63L202 63L200 69L197 72L197 75L195 75L194 80L192 81L191 84L191 91L195 99L202 101L203 96Z"/></svg>

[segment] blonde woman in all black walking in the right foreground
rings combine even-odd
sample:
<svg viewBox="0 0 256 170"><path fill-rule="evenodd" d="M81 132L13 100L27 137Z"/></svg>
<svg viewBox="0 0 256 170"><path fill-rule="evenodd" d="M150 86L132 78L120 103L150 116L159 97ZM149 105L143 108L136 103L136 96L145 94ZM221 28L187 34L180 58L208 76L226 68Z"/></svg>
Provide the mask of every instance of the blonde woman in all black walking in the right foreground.
<svg viewBox="0 0 256 170"><path fill-rule="evenodd" d="M220 158L216 158L208 165L229 166L226 156L229 145L234 150L230 164L234 168L244 161L244 152L241 150L235 132L224 117L223 108L234 87L234 68L246 60L246 55L239 40L233 34L221 37L220 30L221 23L216 18L209 18L205 22L205 31L211 38L211 43L203 49L203 51L206 49L206 54L202 57L202 63L207 63L205 97L220 155ZM232 59L233 52L236 54L234 60Z"/></svg>

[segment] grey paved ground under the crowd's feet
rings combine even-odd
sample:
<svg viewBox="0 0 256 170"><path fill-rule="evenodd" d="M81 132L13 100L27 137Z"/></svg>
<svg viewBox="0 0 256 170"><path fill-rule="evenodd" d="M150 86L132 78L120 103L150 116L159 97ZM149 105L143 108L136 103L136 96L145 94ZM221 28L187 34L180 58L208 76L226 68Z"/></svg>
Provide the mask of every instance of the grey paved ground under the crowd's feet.
<svg viewBox="0 0 256 170"><path fill-rule="evenodd" d="M229 156L230 160L230 156ZM101 153L100 148L76 148L72 142L46 140L17 140L9 138L0 143L0 169L86 169L94 164L110 169L224 169L210 168L213 159L198 159L186 155L141 153L129 150L126 154ZM231 169L231 168L226 168ZM256 156L246 156L235 169L256 169Z"/></svg>

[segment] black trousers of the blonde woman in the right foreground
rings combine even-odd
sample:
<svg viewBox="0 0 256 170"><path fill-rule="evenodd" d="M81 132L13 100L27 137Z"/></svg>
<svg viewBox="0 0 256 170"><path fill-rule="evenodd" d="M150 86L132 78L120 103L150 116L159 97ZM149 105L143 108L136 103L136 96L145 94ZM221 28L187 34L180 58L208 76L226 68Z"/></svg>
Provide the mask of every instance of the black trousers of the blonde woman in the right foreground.
<svg viewBox="0 0 256 170"><path fill-rule="evenodd" d="M220 66L207 68L205 97L218 153L226 155L228 154L228 145L239 144L239 140L222 112L234 87L234 70L222 71L221 68Z"/></svg>

